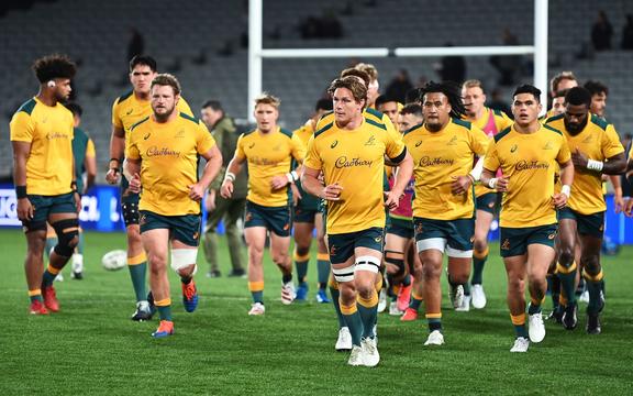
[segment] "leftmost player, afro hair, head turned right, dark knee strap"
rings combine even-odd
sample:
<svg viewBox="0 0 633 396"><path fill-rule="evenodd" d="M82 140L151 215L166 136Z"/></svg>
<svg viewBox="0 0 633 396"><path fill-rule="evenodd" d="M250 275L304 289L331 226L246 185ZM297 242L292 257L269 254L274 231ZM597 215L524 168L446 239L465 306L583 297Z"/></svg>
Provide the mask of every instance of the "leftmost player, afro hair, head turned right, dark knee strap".
<svg viewBox="0 0 633 396"><path fill-rule="evenodd" d="M10 129L16 211L26 235L24 270L30 312L45 315L59 310L53 279L73 256L79 241L74 119L62 105L70 95L76 66L66 56L49 55L35 61L33 72L40 91L13 114ZM46 222L57 234L57 245L43 271Z"/></svg>

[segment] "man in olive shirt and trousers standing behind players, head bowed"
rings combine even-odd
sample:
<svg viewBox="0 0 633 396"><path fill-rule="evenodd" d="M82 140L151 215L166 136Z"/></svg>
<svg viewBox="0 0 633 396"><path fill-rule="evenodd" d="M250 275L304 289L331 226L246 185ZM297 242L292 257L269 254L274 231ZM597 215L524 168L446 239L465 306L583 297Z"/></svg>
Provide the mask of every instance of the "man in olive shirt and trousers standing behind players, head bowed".
<svg viewBox="0 0 633 396"><path fill-rule="evenodd" d="M204 230L204 255L211 268L207 276L220 277L218 265L218 234L215 229L220 220L224 222L224 230L229 242L229 253L231 254L231 265L233 270L229 276L245 276L244 271L244 244L242 242L242 232L237 227L237 220L244 215L246 206L247 173L243 172L236 176L233 182L233 196L229 199L222 198L220 187L229 161L235 153L235 144L240 133L235 128L233 119L226 117L222 105L218 100L208 100L202 105L201 119L213 134L218 147L222 152L222 169L219 176L211 183L209 195L207 196L207 228Z"/></svg>

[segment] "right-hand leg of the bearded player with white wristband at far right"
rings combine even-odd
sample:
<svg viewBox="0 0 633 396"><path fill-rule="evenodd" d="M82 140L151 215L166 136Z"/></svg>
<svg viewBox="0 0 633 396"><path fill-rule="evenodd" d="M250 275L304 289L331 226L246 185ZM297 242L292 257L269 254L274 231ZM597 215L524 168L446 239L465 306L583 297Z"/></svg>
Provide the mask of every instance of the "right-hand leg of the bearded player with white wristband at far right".
<svg viewBox="0 0 633 396"><path fill-rule="evenodd" d="M587 305L587 327L589 334L599 334L602 331L600 312L604 308L603 273L600 264L600 249L602 248L602 224L604 212L589 215L582 218L578 226L580 245L582 246L581 263L584 277L589 292Z"/></svg>

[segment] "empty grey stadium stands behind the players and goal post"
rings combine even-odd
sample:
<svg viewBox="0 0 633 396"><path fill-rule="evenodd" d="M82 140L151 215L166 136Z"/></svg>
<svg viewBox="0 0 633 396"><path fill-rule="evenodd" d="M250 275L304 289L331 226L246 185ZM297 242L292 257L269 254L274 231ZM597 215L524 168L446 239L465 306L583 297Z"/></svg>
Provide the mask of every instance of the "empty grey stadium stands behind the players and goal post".
<svg viewBox="0 0 633 396"><path fill-rule="evenodd" d="M352 12L342 13L345 8ZM575 56L582 42L589 41L591 24L600 9L611 19L612 42L617 47L623 16L633 12L633 3L624 0L549 2L549 54L556 65L548 72L552 76L562 69L573 69L581 80L604 81L611 88L609 119L621 133L629 132L633 129L633 113L625 109L628 92L623 87L632 86L633 75L628 70L633 53L609 51L580 61ZM344 36L302 40L299 22L326 11L340 14ZM530 44L533 13L533 3L522 0L444 0L441 4L417 0L348 3L265 0L264 46L442 46L447 42L501 45L504 28L510 28L521 44ZM55 15L53 22L49 15ZM12 112L37 89L27 67L33 59L46 53L67 53L80 61L75 86L78 101L85 108L84 128L96 141L99 180L102 180L102 169L109 158L112 101L130 89L121 81L126 73L125 50L131 26L142 32L146 53L157 58L160 70L177 75L184 97L195 111L204 99L213 97L222 100L227 113L246 117L247 54L241 45L242 35L247 31L246 1L157 0L149 8L143 2L112 0L99 3L96 16L91 2L58 0L38 3L30 10L10 11L0 19L4 38L0 47L0 72L2 76L11 76L4 78L0 88L3 98L0 119L4 125L0 130L8 130ZM226 46L232 55L220 55L219 50ZM420 77L437 79L433 65L438 58L363 61L378 67L382 88L400 68L409 70L414 84ZM329 81L348 62L345 58L265 61L263 87L282 99L282 125L293 129L302 124ZM496 85L498 75L488 57L469 57L467 64L469 77L481 79L490 88ZM529 74L523 78L531 80ZM10 169L11 148L2 144L0 176Z"/></svg>

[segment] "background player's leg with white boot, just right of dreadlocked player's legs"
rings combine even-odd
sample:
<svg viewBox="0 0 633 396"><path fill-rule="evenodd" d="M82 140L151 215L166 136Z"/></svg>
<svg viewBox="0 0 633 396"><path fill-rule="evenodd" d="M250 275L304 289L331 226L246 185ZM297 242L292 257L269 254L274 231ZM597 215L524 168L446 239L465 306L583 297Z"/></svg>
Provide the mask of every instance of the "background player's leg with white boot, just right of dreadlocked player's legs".
<svg viewBox="0 0 633 396"><path fill-rule="evenodd" d="M492 194L496 196L496 194ZM479 206L478 206L479 207ZM477 209L475 219L475 240L473 241L473 277L471 301L473 307L481 309L486 307L486 293L484 292L484 266L488 260L488 232L495 219L492 211Z"/></svg>

